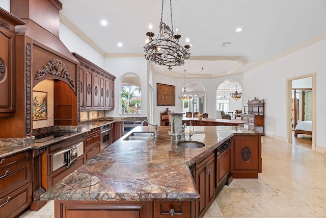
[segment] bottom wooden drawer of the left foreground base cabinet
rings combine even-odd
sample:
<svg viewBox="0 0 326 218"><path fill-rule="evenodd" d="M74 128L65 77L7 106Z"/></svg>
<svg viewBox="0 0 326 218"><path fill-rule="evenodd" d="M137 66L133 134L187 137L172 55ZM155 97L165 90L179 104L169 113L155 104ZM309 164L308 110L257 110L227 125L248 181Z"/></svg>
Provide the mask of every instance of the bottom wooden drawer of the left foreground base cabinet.
<svg viewBox="0 0 326 218"><path fill-rule="evenodd" d="M6 203L7 202L7 203ZM16 191L0 198L0 217L15 217L32 202L32 183L28 183Z"/></svg>

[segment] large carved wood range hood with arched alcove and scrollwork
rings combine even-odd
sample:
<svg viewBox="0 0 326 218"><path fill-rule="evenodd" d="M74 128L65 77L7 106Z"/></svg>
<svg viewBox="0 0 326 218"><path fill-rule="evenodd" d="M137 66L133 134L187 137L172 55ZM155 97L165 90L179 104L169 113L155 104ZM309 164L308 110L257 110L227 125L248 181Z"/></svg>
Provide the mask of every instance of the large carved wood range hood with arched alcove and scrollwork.
<svg viewBox="0 0 326 218"><path fill-rule="evenodd" d="M10 13L25 25L15 27L14 100L10 117L0 116L0 138L33 136L33 87L53 79L53 126L80 126L80 63L59 38L58 0L11 0Z"/></svg>

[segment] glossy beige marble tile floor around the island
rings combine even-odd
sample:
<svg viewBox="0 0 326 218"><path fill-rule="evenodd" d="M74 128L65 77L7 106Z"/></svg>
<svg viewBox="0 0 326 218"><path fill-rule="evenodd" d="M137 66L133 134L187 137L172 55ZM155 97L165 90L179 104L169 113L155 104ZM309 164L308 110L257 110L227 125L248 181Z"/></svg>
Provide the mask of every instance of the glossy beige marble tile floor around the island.
<svg viewBox="0 0 326 218"><path fill-rule="evenodd" d="M326 217L324 154L262 137L262 169L258 179L225 186L204 218ZM53 201L20 217L52 218Z"/></svg>

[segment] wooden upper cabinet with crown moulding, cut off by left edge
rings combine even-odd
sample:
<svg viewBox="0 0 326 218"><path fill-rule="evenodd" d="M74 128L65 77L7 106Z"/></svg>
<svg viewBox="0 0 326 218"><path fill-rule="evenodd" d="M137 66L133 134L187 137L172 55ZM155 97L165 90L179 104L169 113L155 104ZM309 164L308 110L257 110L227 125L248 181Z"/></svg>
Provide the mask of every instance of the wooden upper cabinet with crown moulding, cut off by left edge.
<svg viewBox="0 0 326 218"><path fill-rule="evenodd" d="M0 8L0 117L15 112L15 26L24 24Z"/></svg>

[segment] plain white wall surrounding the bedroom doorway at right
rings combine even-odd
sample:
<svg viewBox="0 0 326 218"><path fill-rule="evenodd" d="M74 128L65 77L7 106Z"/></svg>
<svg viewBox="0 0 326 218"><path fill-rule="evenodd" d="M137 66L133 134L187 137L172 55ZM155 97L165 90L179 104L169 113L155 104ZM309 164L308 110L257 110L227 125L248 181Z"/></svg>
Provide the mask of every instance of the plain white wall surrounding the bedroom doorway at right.
<svg viewBox="0 0 326 218"><path fill-rule="evenodd" d="M326 101L322 99L326 81L326 39L287 56L257 67L243 75L244 99L256 96L265 100L265 133L287 137L286 80L316 74L316 150L326 151L322 131L326 128L323 116Z"/></svg>

